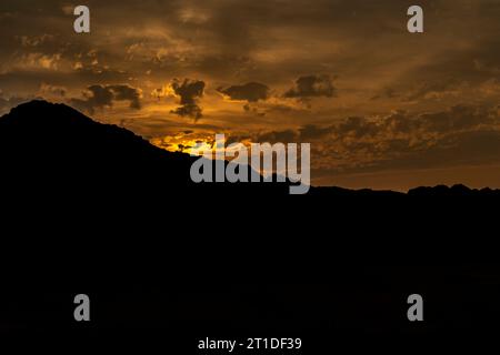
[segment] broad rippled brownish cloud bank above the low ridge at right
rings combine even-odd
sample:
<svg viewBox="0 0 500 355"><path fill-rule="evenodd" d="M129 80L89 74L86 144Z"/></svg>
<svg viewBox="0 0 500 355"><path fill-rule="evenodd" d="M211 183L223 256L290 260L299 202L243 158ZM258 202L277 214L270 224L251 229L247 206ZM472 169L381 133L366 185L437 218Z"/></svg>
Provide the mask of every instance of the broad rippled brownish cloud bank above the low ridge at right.
<svg viewBox="0 0 500 355"><path fill-rule="evenodd" d="M243 136L243 135L241 135ZM313 169L330 173L500 162L499 106L351 116L327 124L249 134L253 142L311 143Z"/></svg>

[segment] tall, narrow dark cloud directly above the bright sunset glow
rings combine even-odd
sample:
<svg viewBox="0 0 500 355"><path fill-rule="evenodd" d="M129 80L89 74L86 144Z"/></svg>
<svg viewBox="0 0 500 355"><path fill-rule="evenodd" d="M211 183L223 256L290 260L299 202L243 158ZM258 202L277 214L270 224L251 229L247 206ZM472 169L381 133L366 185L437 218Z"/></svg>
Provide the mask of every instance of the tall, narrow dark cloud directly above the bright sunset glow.
<svg viewBox="0 0 500 355"><path fill-rule="evenodd" d="M184 79L182 82L174 79L170 84L173 93L180 98L180 108L170 111L180 116L189 116L199 120L202 116L202 109L198 105L198 100L203 97L204 82L201 80Z"/></svg>

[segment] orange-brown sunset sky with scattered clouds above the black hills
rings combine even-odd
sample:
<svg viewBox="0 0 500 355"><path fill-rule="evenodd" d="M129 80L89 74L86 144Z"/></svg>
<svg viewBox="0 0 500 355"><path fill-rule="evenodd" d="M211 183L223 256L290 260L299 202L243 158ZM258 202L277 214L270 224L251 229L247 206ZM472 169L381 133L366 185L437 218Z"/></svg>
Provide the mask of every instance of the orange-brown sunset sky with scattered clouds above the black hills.
<svg viewBox="0 0 500 355"><path fill-rule="evenodd" d="M0 114L43 98L171 151L310 143L320 185L500 187L499 19L499 0L2 0Z"/></svg>

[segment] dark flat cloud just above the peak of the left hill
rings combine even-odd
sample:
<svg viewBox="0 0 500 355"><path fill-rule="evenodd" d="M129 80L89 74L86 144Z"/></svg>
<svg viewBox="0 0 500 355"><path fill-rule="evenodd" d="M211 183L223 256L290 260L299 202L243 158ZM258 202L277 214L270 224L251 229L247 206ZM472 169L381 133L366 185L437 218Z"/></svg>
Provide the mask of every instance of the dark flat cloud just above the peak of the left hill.
<svg viewBox="0 0 500 355"><path fill-rule="evenodd" d="M92 114L96 109L110 108L113 101L129 101L130 108L141 109L141 90L130 85L90 85L83 92L84 99L72 98L70 104Z"/></svg>

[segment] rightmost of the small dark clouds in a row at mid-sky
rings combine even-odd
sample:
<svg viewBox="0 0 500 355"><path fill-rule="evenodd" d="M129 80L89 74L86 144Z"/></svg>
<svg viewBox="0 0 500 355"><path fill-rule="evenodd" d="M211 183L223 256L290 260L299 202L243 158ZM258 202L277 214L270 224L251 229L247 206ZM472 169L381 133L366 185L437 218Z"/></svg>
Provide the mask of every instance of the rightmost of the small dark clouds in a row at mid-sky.
<svg viewBox="0 0 500 355"><path fill-rule="evenodd" d="M286 98L333 98L337 89L330 75L307 75L296 80L296 87L284 93Z"/></svg>

